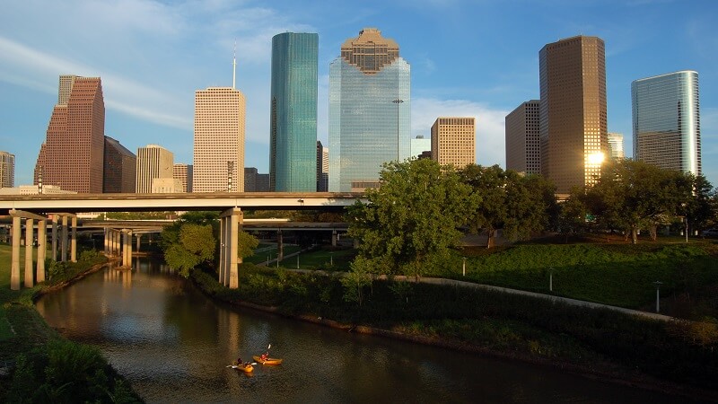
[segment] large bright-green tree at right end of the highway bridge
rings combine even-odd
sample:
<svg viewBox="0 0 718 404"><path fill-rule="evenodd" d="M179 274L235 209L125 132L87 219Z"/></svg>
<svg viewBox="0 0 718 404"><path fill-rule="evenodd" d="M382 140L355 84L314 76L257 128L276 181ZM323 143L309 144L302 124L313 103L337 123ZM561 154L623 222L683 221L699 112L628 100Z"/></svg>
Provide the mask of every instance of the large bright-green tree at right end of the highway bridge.
<svg viewBox="0 0 718 404"><path fill-rule="evenodd" d="M381 188L369 189L366 198L348 212L348 233L369 263L363 267L417 277L429 257L445 257L459 245L459 227L479 201L456 171L429 159L383 164Z"/></svg>

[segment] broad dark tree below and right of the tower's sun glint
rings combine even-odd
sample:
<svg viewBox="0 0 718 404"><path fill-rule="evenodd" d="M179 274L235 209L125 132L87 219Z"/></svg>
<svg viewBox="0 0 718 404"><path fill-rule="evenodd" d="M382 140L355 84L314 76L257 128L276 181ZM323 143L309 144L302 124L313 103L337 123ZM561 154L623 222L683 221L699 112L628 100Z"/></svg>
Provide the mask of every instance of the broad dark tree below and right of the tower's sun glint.
<svg viewBox="0 0 718 404"><path fill-rule="evenodd" d="M604 167L587 198L601 224L623 229L635 244L642 227L655 239L658 225L674 221L689 201L691 189L686 173L622 159Z"/></svg>

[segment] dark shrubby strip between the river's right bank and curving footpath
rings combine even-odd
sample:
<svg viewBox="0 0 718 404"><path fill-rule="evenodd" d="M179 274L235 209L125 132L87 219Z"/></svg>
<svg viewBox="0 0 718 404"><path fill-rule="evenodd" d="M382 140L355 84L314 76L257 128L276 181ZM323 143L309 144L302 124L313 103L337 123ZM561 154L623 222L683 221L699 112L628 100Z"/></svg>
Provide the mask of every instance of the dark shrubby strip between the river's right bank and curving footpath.
<svg viewBox="0 0 718 404"><path fill-rule="evenodd" d="M238 289L220 285L214 273L195 269L191 277L206 294L227 303L718 400L718 349L713 338L701 338L701 327L710 324L391 279L347 293L339 274L252 264L242 264Z"/></svg>

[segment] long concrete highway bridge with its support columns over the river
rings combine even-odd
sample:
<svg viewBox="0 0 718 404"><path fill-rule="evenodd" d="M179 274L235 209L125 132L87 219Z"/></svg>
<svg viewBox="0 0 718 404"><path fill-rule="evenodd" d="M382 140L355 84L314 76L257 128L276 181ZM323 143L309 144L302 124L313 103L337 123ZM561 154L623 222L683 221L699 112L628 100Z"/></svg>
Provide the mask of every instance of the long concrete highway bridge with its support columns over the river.
<svg viewBox="0 0 718 404"><path fill-rule="evenodd" d="M367 203L363 193L355 192L214 192L182 194L54 194L0 195L0 215L13 218L13 253L10 287L20 289L20 242L22 219L25 221L24 286L45 280L44 258L47 250L48 220L52 223L52 254L57 259L57 229L62 223L60 250L66 260L67 229L72 235L70 259L76 260L77 215L83 212L159 212L159 211L219 211L220 264L219 281L230 288L239 287L237 266L238 233L246 210L322 210L340 212L357 201ZM33 232L38 229L38 258L36 274L32 271ZM105 252L122 253L122 265L132 257L132 229L105 227Z"/></svg>

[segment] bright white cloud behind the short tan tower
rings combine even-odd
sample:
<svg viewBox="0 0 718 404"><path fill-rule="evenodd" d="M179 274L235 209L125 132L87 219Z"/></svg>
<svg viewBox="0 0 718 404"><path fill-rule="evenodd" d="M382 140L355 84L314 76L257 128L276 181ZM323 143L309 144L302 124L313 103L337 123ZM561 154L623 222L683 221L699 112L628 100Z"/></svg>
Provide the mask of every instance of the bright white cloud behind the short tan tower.
<svg viewBox="0 0 718 404"><path fill-rule="evenodd" d="M495 110L486 104L465 100L411 100L411 136L428 136L440 117L474 117L477 126L477 164L506 167L504 119L510 111Z"/></svg>

